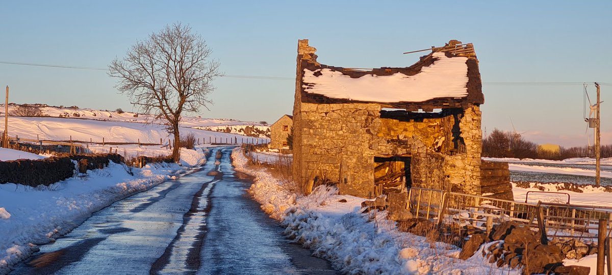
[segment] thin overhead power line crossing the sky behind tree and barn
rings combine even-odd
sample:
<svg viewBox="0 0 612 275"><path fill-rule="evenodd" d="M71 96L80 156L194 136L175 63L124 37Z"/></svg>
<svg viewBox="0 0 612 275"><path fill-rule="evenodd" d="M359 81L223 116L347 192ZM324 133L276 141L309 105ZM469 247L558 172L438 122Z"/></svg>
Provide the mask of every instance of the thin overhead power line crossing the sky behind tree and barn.
<svg viewBox="0 0 612 275"><path fill-rule="evenodd" d="M53 65L53 64L26 63L26 62L0 61L0 64L108 71L108 68L81 67L81 66L71 66L71 65ZM289 78L289 77L284 77L284 76L222 75L221 77L295 81L295 78ZM487 85L487 86L578 86L578 85L583 85L584 83L585 82L482 82L483 85ZM588 83L591 83L591 82L588 82ZM608 82L599 82L599 84L605 85L605 86L612 86L612 83L608 83Z"/></svg>

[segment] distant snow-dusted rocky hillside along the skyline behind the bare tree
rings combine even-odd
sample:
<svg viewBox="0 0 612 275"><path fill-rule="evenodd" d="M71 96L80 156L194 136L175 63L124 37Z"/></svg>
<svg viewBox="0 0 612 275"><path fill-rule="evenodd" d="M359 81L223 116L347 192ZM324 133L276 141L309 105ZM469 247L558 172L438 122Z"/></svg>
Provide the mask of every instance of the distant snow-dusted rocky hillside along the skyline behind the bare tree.
<svg viewBox="0 0 612 275"><path fill-rule="evenodd" d="M0 116L4 116L4 104L0 105ZM9 116L15 117L65 117L70 119L91 119L113 122L151 122L153 116L115 111L78 108L78 106L48 106L46 104L17 105L9 103ZM154 123L159 124L160 121ZM203 119L200 116L183 117L181 127L196 128L200 130L218 131L222 133L240 134L255 138L269 138L270 127L259 122L246 122L233 119Z"/></svg>

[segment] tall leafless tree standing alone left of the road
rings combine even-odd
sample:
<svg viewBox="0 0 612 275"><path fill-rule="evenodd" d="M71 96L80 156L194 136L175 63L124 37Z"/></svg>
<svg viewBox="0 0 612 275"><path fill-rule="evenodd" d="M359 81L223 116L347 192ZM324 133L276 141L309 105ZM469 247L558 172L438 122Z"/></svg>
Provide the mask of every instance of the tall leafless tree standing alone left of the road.
<svg viewBox="0 0 612 275"><path fill-rule="evenodd" d="M179 122L183 112L198 112L212 104L208 95L212 80L220 76L220 63L200 35L181 23L167 25L159 33L133 45L124 59L109 65L110 76L119 78L116 88L146 114L161 119L174 134L172 158L179 161ZM208 109L208 108L207 108Z"/></svg>

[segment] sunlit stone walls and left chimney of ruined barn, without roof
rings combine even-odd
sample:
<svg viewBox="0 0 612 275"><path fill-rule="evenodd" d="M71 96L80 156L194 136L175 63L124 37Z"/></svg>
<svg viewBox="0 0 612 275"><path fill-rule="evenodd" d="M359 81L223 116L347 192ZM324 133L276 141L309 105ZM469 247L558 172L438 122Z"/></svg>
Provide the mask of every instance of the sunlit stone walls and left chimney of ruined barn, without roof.
<svg viewBox="0 0 612 275"><path fill-rule="evenodd" d="M409 156L412 186L482 194L481 112L469 105L435 118L381 118L381 103L302 102L302 59L316 49L299 40L293 108L293 176L305 192L332 182L341 194L375 195L374 157Z"/></svg>

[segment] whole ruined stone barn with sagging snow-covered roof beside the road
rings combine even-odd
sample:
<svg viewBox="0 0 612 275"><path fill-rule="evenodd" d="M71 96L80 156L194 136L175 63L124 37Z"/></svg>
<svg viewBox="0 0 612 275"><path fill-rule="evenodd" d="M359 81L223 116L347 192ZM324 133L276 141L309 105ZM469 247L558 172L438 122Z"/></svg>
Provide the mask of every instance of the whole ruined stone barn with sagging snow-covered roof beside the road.
<svg viewBox="0 0 612 275"><path fill-rule="evenodd" d="M299 40L293 174L305 191L330 182L360 197L411 186L482 194L484 97L471 43L372 70L320 64L315 52Z"/></svg>

